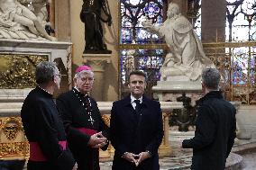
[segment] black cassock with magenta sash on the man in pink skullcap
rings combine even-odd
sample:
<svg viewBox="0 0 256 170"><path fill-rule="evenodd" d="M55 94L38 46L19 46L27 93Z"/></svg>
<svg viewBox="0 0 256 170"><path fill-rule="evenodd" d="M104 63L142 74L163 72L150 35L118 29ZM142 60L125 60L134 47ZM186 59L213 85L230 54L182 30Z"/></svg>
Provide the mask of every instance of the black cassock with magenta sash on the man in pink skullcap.
<svg viewBox="0 0 256 170"><path fill-rule="evenodd" d="M78 169L99 170L99 151L87 146L90 136L96 132L102 131L108 138L108 127L102 120L96 101L72 88L69 92L59 95L56 102ZM102 149L106 148L107 145Z"/></svg>

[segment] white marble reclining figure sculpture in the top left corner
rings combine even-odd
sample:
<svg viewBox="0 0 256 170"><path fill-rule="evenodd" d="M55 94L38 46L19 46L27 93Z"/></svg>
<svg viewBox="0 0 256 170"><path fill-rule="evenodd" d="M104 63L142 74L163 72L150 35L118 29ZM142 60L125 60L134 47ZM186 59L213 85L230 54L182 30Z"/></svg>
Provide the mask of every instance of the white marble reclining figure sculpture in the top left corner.
<svg viewBox="0 0 256 170"><path fill-rule="evenodd" d="M51 37L38 17L17 0L0 0L0 38L32 40Z"/></svg>

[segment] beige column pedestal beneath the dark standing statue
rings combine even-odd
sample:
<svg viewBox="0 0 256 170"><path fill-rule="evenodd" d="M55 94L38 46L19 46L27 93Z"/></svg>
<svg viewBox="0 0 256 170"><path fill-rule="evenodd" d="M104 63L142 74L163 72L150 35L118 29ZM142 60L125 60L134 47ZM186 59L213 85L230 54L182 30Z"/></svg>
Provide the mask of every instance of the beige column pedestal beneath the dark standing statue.
<svg viewBox="0 0 256 170"><path fill-rule="evenodd" d="M83 54L83 63L92 67L95 74L92 96L96 101L104 101L104 72L105 66L111 63L111 54Z"/></svg>

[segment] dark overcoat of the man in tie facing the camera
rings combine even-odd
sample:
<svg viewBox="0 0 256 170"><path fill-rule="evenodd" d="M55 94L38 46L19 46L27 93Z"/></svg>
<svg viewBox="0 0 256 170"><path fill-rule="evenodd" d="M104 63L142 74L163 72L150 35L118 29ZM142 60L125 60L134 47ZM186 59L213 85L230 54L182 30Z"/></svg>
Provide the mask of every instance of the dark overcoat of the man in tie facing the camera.
<svg viewBox="0 0 256 170"><path fill-rule="evenodd" d="M137 116L133 109L130 95L113 103L110 121L111 143L115 149L113 170L160 169L158 148L163 138L160 103L143 96L140 114ZM122 157L125 152L139 154L147 150L151 157L137 167Z"/></svg>

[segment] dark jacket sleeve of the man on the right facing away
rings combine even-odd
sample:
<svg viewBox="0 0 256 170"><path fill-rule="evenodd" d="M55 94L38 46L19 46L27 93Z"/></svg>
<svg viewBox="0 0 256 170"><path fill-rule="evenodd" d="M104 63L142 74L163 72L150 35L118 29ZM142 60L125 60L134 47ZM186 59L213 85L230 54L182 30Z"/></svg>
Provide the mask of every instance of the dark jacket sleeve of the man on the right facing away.
<svg viewBox="0 0 256 170"><path fill-rule="evenodd" d="M182 148L205 148L211 144L215 138L215 118L206 106L200 106L197 112L195 137L185 139Z"/></svg>

